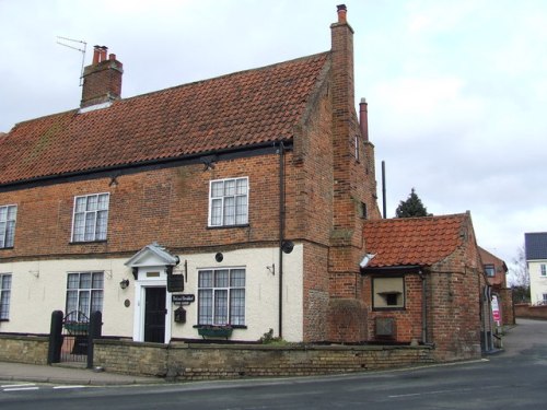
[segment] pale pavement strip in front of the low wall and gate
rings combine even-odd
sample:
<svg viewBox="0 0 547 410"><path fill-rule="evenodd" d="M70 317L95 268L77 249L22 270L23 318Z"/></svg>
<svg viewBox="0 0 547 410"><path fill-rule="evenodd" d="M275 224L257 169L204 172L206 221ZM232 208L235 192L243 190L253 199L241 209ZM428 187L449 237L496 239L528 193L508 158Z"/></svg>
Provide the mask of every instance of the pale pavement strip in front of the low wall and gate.
<svg viewBox="0 0 547 410"><path fill-rule="evenodd" d="M131 376L127 374L97 372L91 368L61 366L61 365L37 365L23 363L0 362L0 383L4 382L33 382L51 383L61 385L149 385L165 383L160 377Z"/></svg>

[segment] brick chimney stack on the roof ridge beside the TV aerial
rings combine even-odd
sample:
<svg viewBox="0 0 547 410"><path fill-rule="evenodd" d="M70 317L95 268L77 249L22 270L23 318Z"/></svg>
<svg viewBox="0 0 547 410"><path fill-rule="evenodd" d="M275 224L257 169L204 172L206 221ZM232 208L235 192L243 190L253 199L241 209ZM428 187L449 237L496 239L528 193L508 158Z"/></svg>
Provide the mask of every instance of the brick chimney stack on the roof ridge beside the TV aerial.
<svg viewBox="0 0 547 410"><path fill-rule="evenodd" d="M93 62L83 70L83 90L81 108L105 104L121 97L121 75L124 65L116 60L116 55L106 58L108 48L95 46Z"/></svg>

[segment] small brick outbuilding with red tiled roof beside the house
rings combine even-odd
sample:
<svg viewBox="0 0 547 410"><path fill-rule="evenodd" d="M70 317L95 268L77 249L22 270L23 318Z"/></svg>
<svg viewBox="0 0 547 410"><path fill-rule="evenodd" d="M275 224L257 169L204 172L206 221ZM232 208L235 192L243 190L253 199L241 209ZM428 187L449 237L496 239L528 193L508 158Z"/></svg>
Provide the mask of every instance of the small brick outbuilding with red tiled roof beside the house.
<svg viewBox="0 0 547 410"><path fill-rule="evenodd" d="M366 221L364 237L371 339L432 343L444 360L480 354L491 315L469 213Z"/></svg>

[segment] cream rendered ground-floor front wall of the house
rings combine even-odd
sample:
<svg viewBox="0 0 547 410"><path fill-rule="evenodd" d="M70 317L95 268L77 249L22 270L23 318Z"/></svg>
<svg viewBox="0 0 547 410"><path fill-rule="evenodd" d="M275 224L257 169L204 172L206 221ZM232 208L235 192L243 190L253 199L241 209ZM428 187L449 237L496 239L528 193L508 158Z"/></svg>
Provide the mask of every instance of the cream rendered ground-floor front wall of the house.
<svg viewBox="0 0 547 410"><path fill-rule="evenodd" d="M245 324L235 329L232 340L258 340L270 328L278 336L279 317L279 249L257 248L223 253L222 262L216 253L178 255L181 263L174 273L183 273L187 261L185 294L195 294L196 302L184 306L185 324L176 324L172 305L166 326L173 338L199 338L197 325L197 276L199 269L245 268ZM103 335L133 337L136 283L131 269L124 259L63 259L56 261L0 262L0 273L12 274L10 319L0 323L0 332L48 333L51 312L65 312L67 273L104 271ZM275 273L274 271L275 265ZM268 269L268 267L270 269ZM121 290L119 282L129 279L129 288ZM139 281L142 286L146 283ZM156 283L158 284L158 283ZM291 254L283 255L283 339L302 341L303 338L303 246L295 245ZM167 293L167 304L171 294ZM129 306L126 306L129 305Z"/></svg>

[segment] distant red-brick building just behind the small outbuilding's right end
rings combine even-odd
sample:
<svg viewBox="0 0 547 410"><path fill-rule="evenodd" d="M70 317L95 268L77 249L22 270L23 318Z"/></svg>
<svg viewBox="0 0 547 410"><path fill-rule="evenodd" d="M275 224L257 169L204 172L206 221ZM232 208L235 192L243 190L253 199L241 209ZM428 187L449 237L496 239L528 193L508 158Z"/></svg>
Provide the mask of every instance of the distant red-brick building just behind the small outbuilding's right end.
<svg viewBox="0 0 547 410"><path fill-rule="evenodd" d="M508 266L503 260L479 247L480 259L491 286L492 303L498 309L494 312L494 320L498 326L514 325L513 292L508 288Z"/></svg>

